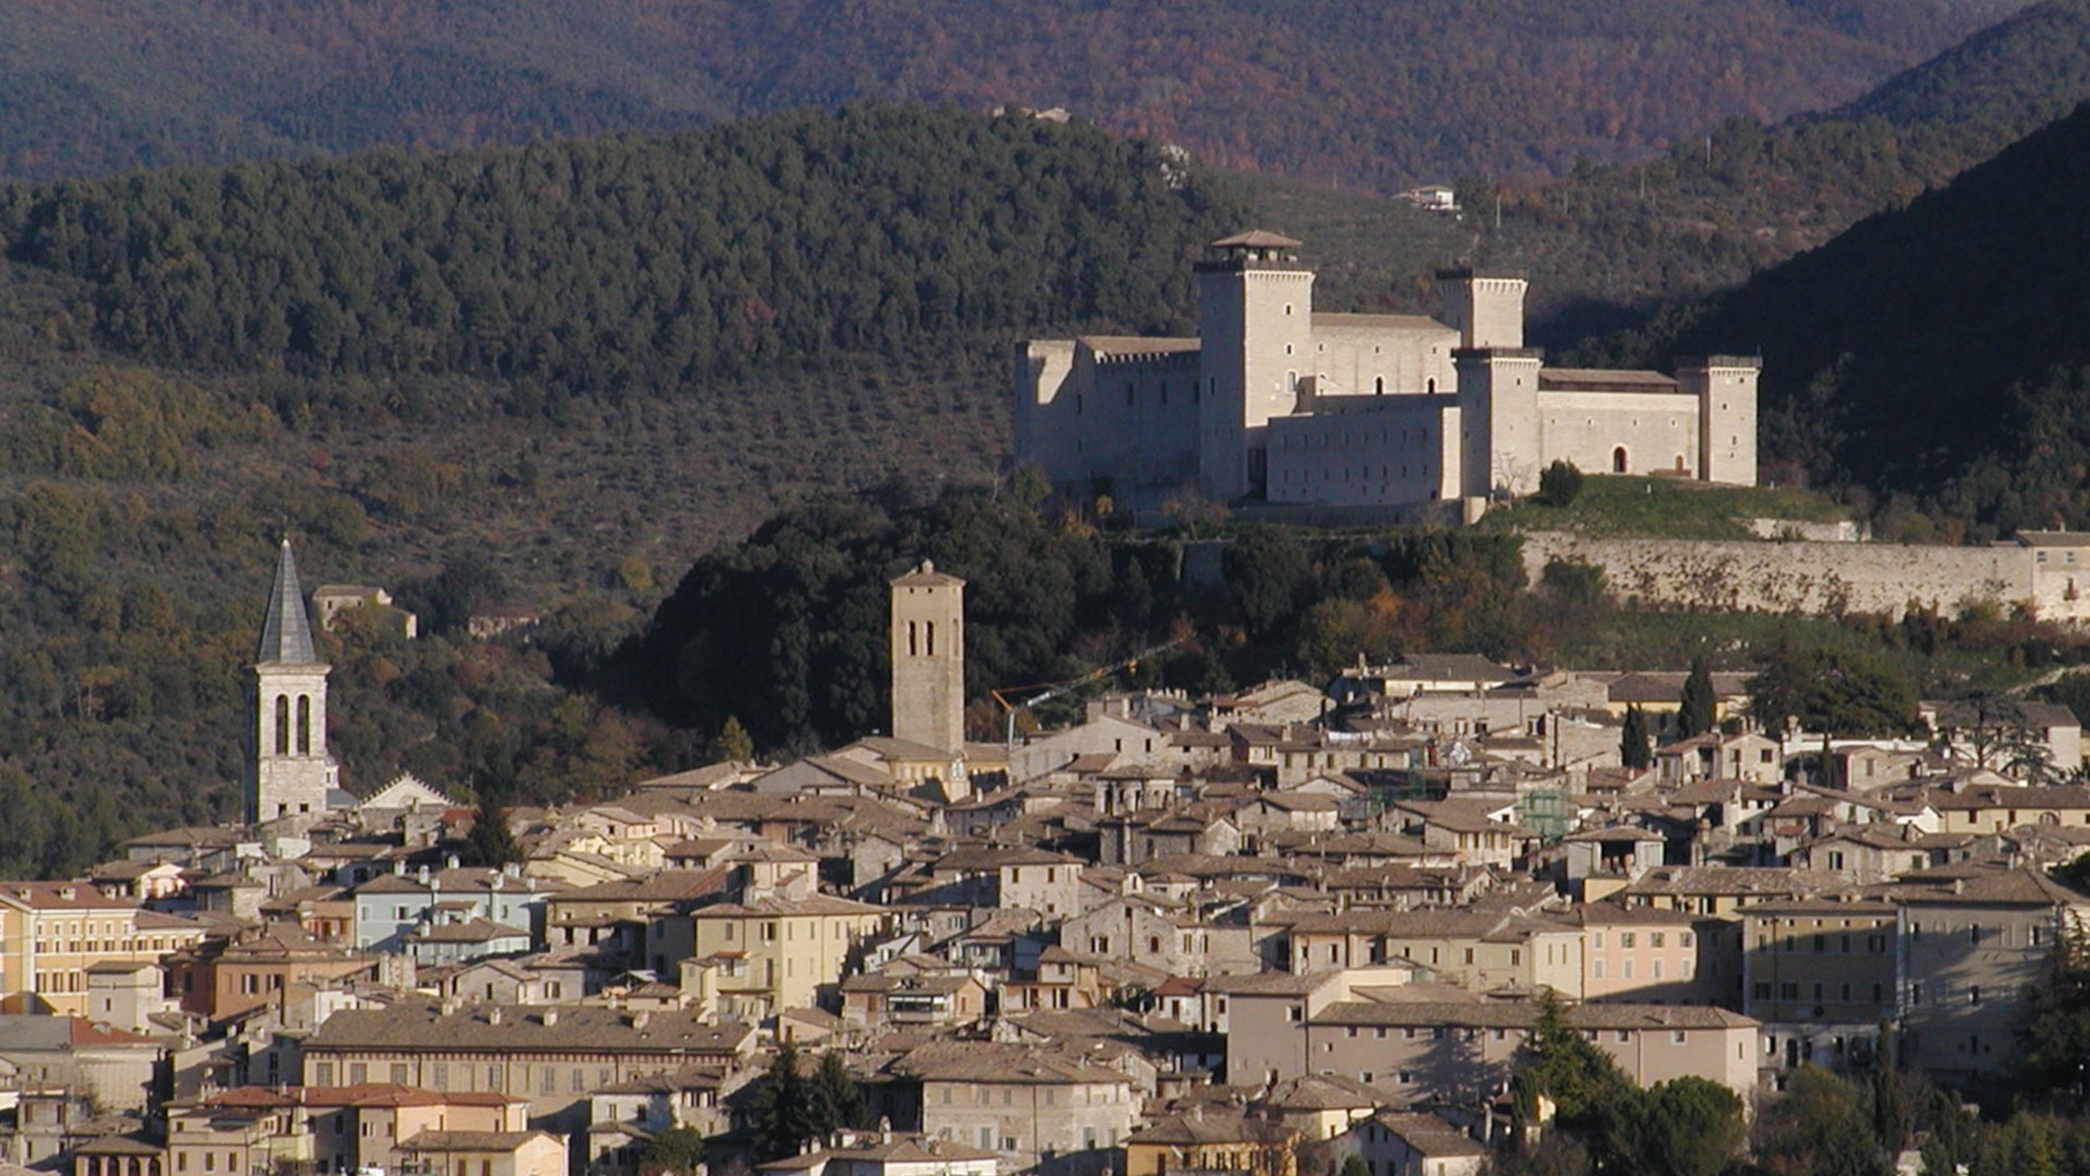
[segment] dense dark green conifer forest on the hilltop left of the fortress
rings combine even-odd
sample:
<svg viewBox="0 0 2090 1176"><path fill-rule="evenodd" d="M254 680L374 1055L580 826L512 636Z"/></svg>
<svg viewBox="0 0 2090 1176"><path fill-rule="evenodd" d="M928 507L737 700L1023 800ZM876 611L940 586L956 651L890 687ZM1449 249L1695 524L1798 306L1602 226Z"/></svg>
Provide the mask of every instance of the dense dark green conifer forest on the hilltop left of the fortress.
<svg viewBox="0 0 2090 1176"><path fill-rule="evenodd" d="M903 107L0 193L8 257L90 282L92 331L125 352L548 395L1166 326L1183 264L1235 222L1152 144Z"/></svg>

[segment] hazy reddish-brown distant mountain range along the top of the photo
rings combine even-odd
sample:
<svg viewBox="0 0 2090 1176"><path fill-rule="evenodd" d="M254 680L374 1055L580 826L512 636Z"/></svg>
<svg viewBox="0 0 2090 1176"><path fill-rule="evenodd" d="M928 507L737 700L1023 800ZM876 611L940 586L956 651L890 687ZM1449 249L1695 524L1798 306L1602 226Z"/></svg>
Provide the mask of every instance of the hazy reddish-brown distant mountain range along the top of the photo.
<svg viewBox="0 0 2090 1176"><path fill-rule="evenodd" d="M470 146L907 98L1064 105L1365 188L1774 119L2023 0L23 0L0 176Z"/></svg>

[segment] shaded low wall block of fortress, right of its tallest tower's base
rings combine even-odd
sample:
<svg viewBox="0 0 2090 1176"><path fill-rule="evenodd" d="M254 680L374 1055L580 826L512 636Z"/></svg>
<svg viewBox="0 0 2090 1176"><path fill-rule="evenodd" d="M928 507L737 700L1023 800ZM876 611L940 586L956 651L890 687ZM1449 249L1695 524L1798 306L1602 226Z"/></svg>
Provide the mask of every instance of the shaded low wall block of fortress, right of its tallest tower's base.
<svg viewBox="0 0 2090 1176"><path fill-rule="evenodd" d="M1388 506L1457 496L1457 467L1444 462L1446 450L1457 454L1453 398L1367 400L1365 410L1271 421L1271 502Z"/></svg>

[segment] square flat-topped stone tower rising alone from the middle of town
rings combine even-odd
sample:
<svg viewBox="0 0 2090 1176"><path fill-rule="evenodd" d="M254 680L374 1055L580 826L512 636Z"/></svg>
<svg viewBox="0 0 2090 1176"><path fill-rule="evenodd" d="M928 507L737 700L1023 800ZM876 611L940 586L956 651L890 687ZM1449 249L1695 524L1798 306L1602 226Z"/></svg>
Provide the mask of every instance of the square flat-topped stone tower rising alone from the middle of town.
<svg viewBox="0 0 2090 1176"><path fill-rule="evenodd" d="M926 559L892 582L892 737L966 749L966 582Z"/></svg>

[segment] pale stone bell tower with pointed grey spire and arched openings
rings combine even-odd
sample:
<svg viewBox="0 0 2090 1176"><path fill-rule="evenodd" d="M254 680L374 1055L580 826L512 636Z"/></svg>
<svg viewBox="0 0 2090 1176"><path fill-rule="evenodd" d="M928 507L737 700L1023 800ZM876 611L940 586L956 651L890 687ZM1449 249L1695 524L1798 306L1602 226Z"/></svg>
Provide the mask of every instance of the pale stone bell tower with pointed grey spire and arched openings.
<svg viewBox="0 0 2090 1176"><path fill-rule="evenodd" d="M341 768L326 753L328 670L332 665L320 661L311 642L291 540L282 540L247 691L253 714L245 781L249 822L326 812L326 797L341 783Z"/></svg>

